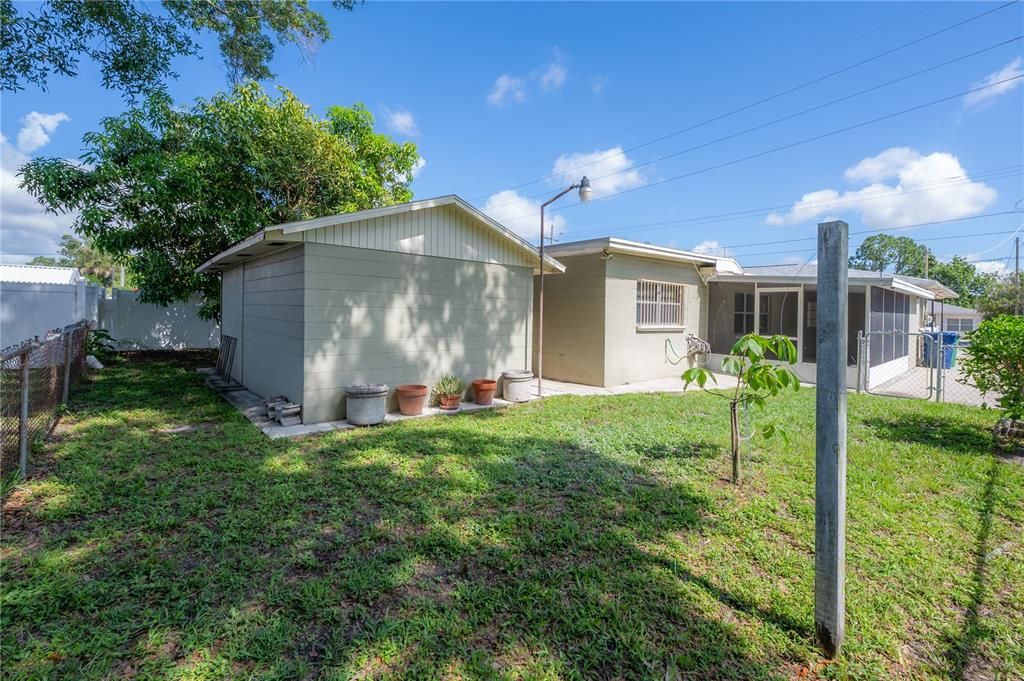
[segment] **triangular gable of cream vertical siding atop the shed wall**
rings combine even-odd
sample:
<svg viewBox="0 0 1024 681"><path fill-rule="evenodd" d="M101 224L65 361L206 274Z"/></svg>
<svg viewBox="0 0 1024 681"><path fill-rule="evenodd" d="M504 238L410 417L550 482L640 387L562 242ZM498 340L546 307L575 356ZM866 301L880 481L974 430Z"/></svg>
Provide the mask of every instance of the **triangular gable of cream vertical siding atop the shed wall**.
<svg viewBox="0 0 1024 681"><path fill-rule="evenodd" d="M311 244L531 266L508 239L455 206L440 206L302 232Z"/></svg>

